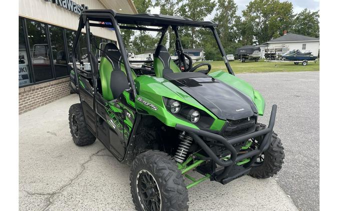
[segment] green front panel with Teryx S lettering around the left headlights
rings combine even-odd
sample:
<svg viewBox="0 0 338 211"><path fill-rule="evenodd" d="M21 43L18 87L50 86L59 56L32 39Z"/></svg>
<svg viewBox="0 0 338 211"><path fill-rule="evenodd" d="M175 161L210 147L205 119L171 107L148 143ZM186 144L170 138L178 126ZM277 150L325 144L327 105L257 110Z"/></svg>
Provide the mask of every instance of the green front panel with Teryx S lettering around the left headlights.
<svg viewBox="0 0 338 211"><path fill-rule="evenodd" d="M143 100L155 105L157 109L144 104L143 102L136 100L135 107L137 110L146 111L148 114L157 117L164 124L174 127L177 123L190 126L193 128L198 128L195 124L189 122L188 120L178 118L168 112L167 108L163 102L163 96L176 99L186 104L189 104L193 107L204 110L208 113L215 121L212 124L213 129L220 130L224 125L224 120L219 120L217 117L196 101L192 96L187 94L181 88L177 87L170 81L162 77L155 77L149 75L141 75L135 79L135 86L138 93L138 97L141 97Z"/></svg>

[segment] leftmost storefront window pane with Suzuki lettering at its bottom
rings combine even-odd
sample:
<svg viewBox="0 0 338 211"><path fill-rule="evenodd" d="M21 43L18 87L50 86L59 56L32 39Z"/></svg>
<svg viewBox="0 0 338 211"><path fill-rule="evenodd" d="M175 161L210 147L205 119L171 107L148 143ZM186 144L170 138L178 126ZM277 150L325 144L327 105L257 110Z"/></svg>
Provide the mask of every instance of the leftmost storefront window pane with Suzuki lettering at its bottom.
<svg viewBox="0 0 338 211"><path fill-rule="evenodd" d="M31 83L23 19L19 18L19 86Z"/></svg>

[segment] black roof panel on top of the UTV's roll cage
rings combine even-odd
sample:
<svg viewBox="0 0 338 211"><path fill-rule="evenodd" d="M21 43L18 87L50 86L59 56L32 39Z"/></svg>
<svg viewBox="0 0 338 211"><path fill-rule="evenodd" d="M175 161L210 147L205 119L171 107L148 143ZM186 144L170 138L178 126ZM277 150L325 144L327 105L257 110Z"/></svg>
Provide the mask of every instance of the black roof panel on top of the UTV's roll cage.
<svg viewBox="0 0 338 211"><path fill-rule="evenodd" d="M82 15L90 15L90 20L110 22L110 15L113 15L119 24L133 25L148 25L148 26L195 26L195 27L210 27L217 26L211 21L194 21L187 17L164 15L164 14L122 14L117 13L113 9L87 9L82 12Z"/></svg>

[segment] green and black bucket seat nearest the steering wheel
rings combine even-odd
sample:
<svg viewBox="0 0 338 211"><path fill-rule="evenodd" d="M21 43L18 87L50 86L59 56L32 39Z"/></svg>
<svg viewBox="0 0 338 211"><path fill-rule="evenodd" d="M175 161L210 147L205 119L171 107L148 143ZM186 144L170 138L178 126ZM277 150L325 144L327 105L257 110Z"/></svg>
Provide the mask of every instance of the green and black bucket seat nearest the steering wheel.
<svg viewBox="0 0 338 211"><path fill-rule="evenodd" d="M181 72L180 68L171 59L165 46L159 44L154 54L154 71L157 77L163 77L164 74L171 72Z"/></svg>

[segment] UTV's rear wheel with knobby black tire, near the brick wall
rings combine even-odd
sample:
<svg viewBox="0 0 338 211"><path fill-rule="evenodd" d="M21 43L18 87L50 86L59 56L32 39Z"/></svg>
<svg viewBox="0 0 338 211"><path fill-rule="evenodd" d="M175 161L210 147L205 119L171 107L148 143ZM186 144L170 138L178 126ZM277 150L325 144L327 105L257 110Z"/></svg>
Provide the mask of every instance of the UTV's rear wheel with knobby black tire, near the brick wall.
<svg viewBox="0 0 338 211"><path fill-rule="evenodd" d="M80 103L73 104L69 108L68 119L73 141L76 145L84 146L95 142L96 137L87 127Z"/></svg>

